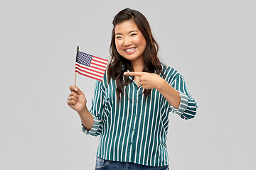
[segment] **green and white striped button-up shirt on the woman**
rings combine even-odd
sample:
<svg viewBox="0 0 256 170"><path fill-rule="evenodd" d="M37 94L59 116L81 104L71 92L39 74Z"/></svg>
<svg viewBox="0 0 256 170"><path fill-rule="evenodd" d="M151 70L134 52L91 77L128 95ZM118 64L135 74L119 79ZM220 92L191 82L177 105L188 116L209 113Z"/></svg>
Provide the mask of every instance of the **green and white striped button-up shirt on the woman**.
<svg viewBox="0 0 256 170"><path fill-rule="evenodd" d="M164 75L160 74L160 77L180 94L178 109L171 106L156 89L151 89L145 100L144 89L135 81L124 86L127 95L122 95L122 101L117 102L115 80L111 79L107 84L105 74L103 81L96 81L90 109L94 125L89 131L82 125L82 131L93 136L100 135L97 157L147 166L169 165L166 148L169 113L191 119L196 115L197 103L191 98L183 76L176 69L162 64L162 72Z"/></svg>

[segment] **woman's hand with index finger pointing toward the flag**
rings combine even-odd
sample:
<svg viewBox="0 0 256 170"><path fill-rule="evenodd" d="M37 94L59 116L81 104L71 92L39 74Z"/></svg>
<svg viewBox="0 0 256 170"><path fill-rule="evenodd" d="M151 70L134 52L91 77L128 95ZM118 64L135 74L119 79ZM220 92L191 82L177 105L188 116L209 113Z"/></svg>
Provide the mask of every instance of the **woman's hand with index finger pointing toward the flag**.
<svg viewBox="0 0 256 170"><path fill-rule="evenodd" d="M139 82L144 89L159 89L165 81L158 74L148 72L124 72L124 75L139 77Z"/></svg>

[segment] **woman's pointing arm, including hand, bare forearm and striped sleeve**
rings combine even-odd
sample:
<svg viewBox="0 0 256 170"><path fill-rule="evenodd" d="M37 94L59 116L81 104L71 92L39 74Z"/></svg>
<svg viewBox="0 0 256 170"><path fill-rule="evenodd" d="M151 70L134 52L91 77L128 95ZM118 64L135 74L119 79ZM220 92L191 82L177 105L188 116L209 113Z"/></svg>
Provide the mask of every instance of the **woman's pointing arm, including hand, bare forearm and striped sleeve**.
<svg viewBox="0 0 256 170"><path fill-rule="evenodd" d="M185 81L180 74L176 74L175 79L171 79L170 82L158 74L148 72L124 72L124 75L139 77L139 82L144 89L157 89L170 103L171 111L181 115L181 118L195 117L197 103L188 93Z"/></svg>

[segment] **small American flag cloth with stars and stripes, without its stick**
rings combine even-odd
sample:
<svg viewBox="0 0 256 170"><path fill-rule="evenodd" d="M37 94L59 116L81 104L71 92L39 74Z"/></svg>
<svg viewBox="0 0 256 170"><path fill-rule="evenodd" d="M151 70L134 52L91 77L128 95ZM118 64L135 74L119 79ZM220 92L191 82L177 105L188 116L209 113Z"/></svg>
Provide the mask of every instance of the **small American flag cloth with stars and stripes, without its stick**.
<svg viewBox="0 0 256 170"><path fill-rule="evenodd" d="M78 51L75 60L75 72L78 72L82 76L102 81L107 62L107 60L100 57Z"/></svg>

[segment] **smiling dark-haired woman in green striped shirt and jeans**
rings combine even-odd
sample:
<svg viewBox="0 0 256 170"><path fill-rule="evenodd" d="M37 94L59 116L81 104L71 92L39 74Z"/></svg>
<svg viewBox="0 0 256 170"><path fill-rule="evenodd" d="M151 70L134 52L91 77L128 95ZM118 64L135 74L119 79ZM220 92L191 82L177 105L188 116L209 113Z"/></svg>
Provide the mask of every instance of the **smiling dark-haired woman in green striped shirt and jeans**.
<svg viewBox="0 0 256 170"><path fill-rule="evenodd" d="M112 23L112 58L103 81L96 81L92 108L76 86L68 105L80 115L83 132L100 135L96 169L169 169L169 112L191 119L197 103L181 74L159 61L142 13L126 8Z"/></svg>

